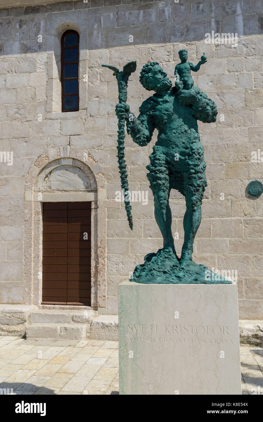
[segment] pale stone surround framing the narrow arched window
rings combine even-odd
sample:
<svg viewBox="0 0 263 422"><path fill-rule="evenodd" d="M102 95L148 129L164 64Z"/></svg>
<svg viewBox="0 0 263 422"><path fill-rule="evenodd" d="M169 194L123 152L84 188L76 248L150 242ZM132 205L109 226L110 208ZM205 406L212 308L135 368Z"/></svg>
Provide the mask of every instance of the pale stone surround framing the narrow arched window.
<svg viewBox="0 0 263 422"><path fill-rule="evenodd" d="M78 11L79 12L79 11ZM64 12L65 14L65 12ZM57 14L59 15L59 14ZM67 18L66 15L65 19ZM87 28L79 26L78 14L72 14L70 21L65 21L53 28L51 24L46 30L47 36L47 102L46 111L62 113L61 104L61 37L67 30L75 30L79 34L79 111L87 109L87 81L84 75L87 68ZM82 22L82 21L81 21ZM80 24L81 25L81 24ZM63 112L64 114L65 112Z"/></svg>

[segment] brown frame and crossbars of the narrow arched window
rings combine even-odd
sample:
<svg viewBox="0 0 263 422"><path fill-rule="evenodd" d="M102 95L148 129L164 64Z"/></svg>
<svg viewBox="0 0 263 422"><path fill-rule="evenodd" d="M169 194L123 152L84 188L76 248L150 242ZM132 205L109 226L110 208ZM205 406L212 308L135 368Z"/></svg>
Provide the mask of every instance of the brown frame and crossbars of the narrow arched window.
<svg viewBox="0 0 263 422"><path fill-rule="evenodd" d="M72 46L72 47L65 47L64 46L65 37L70 33L76 34L77 38L78 38L78 46L77 46L77 48L78 48L78 61L77 62L76 61L75 62L65 62L65 49L68 50L68 49L75 49L76 48L76 46ZM60 65L61 65L61 76L60 76L60 82L61 82L61 111L62 111L62 113L67 113L67 112L70 112L70 111L79 111L79 33L75 30L67 30L62 34L60 42L61 42L61 58L60 58ZM69 64L76 64L76 63L78 65L78 77L65 78L64 77L64 65L65 64L68 64L68 65ZM71 81L72 80L78 81L78 92L77 92L77 94L76 93L74 93L74 94L65 94L64 93L64 81L70 81L70 80ZM64 110L64 97L70 97L70 96L73 96L73 95L78 96L78 108L76 108L76 109L74 108L74 109L70 109L70 110Z"/></svg>

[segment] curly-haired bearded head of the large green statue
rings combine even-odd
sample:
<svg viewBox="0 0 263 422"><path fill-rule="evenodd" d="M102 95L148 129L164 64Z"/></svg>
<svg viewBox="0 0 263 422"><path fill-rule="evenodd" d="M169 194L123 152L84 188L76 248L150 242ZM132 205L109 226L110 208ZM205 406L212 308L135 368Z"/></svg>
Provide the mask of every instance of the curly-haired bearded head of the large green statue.
<svg viewBox="0 0 263 422"><path fill-rule="evenodd" d="M140 82L147 91L162 92L172 87L167 73L161 68L158 62L151 62L141 69Z"/></svg>

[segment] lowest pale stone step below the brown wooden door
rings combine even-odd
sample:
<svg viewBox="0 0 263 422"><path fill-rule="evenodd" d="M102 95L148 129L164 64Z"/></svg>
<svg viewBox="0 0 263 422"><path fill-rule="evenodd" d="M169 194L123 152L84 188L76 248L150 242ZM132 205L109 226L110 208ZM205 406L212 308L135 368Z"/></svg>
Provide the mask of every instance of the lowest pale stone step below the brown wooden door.
<svg viewBox="0 0 263 422"><path fill-rule="evenodd" d="M26 328L26 337L31 339L49 338L51 340L86 340L90 338L89 324L34 324Z"/></svg>

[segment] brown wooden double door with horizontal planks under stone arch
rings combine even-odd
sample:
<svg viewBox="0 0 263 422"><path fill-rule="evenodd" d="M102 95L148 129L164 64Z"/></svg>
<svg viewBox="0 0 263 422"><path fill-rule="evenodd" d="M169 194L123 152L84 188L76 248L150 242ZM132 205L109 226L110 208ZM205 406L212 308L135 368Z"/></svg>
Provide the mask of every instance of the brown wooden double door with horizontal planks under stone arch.
<svg viewBox="0 0 263 422"><path fill-rule="evenodd" d="M42 304L91 305L91 202L43 203Z"/></svg>

